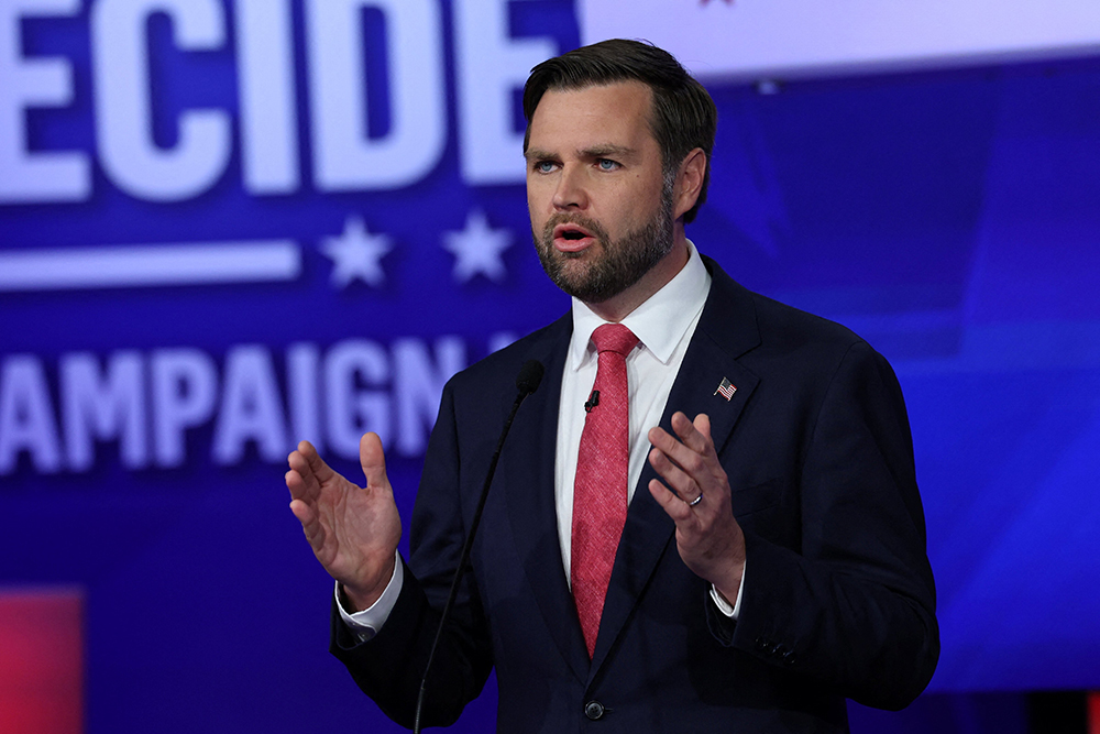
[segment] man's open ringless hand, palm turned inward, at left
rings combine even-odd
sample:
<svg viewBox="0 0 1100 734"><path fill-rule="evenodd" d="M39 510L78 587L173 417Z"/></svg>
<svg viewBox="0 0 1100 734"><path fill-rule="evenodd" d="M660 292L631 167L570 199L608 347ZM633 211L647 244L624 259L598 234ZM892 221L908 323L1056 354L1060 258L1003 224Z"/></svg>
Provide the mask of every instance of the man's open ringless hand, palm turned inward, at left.
<svg viewBox="0 0 1100 734"><path fill-rule="evenodd" d="M314 555L340 582L348 601L364 610L382 595L394 573L402 519L386 479L386 459L377 434L364 434L359 461L366 489L332 470L302 441L287 459L290 512L301 523Z"/></svg>

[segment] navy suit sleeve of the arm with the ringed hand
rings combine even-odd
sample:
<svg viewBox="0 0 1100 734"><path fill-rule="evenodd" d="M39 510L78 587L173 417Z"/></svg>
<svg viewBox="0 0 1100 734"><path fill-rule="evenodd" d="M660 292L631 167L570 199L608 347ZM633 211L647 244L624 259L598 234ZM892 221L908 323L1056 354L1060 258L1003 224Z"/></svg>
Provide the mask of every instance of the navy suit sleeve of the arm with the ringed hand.
<svg viewBox="0 0 1100 734"><path fill-rule="evenodd" d="M801 548L746 533L739 621L726 644L860 703L901 709L939 656L912 439L886 359L853 344L807 427Z"/></svg>

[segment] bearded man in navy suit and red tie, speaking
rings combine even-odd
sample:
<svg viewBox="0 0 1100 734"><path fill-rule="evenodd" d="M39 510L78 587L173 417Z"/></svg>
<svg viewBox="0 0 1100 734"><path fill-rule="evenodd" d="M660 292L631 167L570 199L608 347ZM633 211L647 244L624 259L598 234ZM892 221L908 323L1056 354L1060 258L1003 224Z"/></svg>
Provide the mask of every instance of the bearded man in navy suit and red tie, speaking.
<svg viewBox="0 0 1100 734"><path fill-rule="evenodd" d="M410 724L512 385L537 359L427 723L457 719L494 666L507 732L845 732L845 697L906 705L938 631L890 366L688 241L715 109L667 53L576 50L535 68L524 107L536 248L573 308L448 383L407 565L376 436L366 489L308 443L290 454L292 511L337 580L332 653Z"/></svg>

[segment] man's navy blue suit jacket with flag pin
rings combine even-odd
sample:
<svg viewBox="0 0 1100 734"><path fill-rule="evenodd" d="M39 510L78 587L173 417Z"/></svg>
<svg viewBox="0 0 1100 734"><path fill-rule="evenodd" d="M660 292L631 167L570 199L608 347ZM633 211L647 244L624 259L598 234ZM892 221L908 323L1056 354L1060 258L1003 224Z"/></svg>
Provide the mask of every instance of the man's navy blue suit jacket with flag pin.
<svg viewBox="0 0 1100 734"><path fill-rule="evenodd" d="M647 465L588 660L553 500L566 315L448 383L397 604L363 644L333 616L332 653L391 717L411 725L438 612L529 359L546 376L505 443L427 723L457 719L494 666L498 730L524 733L846 732L846 697L897 709L927 684L935 592L893 371L847 329L704 262L711 293L661 425L675 410L711 417L746 536L738 621L717 613L680 559ZM723 377L737 387L729 401L715 395Z"/></svg>

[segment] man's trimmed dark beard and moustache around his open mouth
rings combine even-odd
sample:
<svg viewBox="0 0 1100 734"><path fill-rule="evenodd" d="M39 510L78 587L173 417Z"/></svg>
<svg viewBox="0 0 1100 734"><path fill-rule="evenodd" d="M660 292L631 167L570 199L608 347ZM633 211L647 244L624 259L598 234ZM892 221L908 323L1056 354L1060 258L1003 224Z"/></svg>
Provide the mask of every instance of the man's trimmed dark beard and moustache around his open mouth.
<svg viewBox="0 0 1100 734"><path fill-rule="evenodd" d="M553 230L565 222L583 227L597 241L583 252L560 252L553 247ZM586 304L598 304L640 281L672 251L672 191L666 190L661 193L661 205L652 218L617 240L613 240L595 220L569 213L550 217L542 234L532 230L532 235L542 270L554 285ZM594 256L595 248L602 253ZM582 258L592 260L584 264L580 262Z"/></svg>

